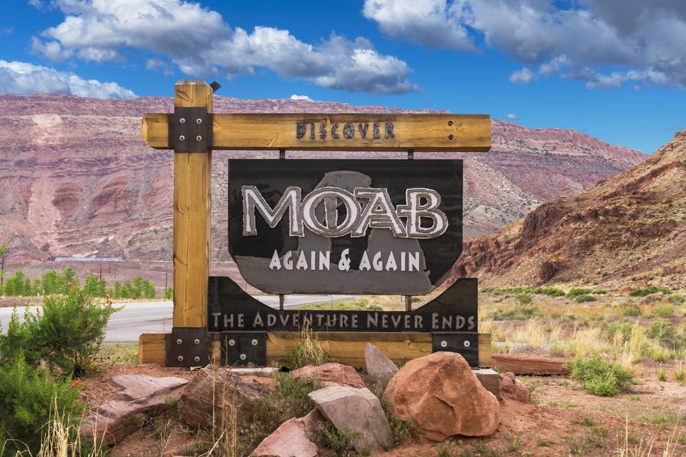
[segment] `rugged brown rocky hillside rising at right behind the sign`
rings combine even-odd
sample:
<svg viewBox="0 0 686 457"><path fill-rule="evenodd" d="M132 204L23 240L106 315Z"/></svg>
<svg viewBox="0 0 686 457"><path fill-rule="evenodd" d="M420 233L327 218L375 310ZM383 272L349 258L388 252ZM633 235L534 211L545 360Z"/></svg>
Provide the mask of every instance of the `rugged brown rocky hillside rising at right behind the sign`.
<svg viewBox="0 0 686 457"><path fill-rule="evenodd" d="M686 130L648 160L464 243L455 275L480 285L686 287Z"/></svg>

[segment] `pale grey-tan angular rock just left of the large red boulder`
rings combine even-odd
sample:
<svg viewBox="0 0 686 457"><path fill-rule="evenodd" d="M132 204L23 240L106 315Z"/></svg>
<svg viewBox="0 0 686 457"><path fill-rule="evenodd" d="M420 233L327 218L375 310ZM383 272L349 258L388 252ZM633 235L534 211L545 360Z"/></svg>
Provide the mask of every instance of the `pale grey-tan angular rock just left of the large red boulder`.
<svg viewBox="0 0 686 457"><path fill-rule="evenodd" d="M322 415L338 430L357 430L353 440L358 452L388 447L390 427L379 399L368 388L329 386L310 392L308 397Z"/></svg>

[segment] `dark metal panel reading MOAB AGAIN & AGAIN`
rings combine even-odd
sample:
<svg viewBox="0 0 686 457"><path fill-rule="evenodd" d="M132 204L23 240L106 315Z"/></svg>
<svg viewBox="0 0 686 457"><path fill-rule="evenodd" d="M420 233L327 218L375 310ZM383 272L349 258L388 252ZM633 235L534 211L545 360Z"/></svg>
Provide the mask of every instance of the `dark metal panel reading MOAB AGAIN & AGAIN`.
<svg viewBox="0 0 686 457"><path fill-rule="evenodd" d="M228 214L261 291L425 295L462 251L462 161L229 160Z"/></svg>

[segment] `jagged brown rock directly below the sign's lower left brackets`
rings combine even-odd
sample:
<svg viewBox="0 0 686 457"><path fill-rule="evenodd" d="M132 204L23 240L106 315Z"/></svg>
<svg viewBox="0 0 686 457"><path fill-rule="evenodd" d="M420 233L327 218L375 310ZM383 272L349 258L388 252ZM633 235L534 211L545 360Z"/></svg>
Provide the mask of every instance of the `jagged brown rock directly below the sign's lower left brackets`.
<svg viewBox="0 0 686 457"><path fill-rule="evenodd" d="M223 410L231 407L234 392L240 410L249 400L259 399L265 393L265 386L256 381L243 380L231 373L230 369L212 365L200 369L181 395L179 408L182 421L193 428L210 427L213 413L220 417Z"/></svg>

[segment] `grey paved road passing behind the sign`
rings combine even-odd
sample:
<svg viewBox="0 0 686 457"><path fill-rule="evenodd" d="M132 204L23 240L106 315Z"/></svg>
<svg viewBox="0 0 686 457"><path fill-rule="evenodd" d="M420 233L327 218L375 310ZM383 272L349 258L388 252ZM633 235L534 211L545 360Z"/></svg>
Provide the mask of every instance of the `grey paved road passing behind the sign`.
<svg viewBox="0 0 686 457"><path fill-rule="evenodd" d="M279 308L279 297L274 295L255 295L263 304ZM286 295L284 308L295 308L313 303L339 301L353 298L353 295ZM121 306L121 305L120 305ZM105 341L110 343L138 341L141 333L169 332L171 330L171 301L139 301L123 305L123 310L116 312L107 325ZM32 306L35 312L40 306ZM25 308L19 308L19 317L23 317ZM0 324L7 328L12 316L12 308L0 308Z"/></svg>

